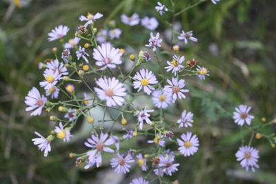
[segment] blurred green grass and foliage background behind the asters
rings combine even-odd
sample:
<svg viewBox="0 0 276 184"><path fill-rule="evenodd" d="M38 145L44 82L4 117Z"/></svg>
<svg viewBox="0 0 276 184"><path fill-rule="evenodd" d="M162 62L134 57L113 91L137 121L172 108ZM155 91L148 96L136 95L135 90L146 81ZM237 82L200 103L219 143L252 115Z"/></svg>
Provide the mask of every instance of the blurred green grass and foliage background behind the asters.
<svg viewBox="0 0 276 184"><path fill-rule="evenodd" d="M161 1L170 8L169 1ZM196 0L177 0L177 12ZM24 109L24 96L42 79L37 65L52 53L55 43L47 34L59 24L68 25L74 36L77 18L88 12L101 12L104 18L97 27L110 20L123 30L121 39L113 42L127 52L137 54L147 43L149 30L128 27L120 22L122 13L137 12L140 17L157 17L158 32L164 38L164 49L170 52L170 13L159 15L153 0L35 0L0 1L0 183L126 183L139 170L126 176L117 175L108 163L100 169L83 170L75 167L69 152L83 152L83 142L89 136L83 131L85 121L75 128L76 138L69 144L56 141L47 158L32 144L34 131L46 135L55 124L49 114L30 117ZM210 70L206 81L195 77L186 79L190 96L179 104L179 112L189 109L195 114L193 130L199 134L201 147L191 158L181 163L173 178L180 183L275 183L275 149L265 139L253 140L260 152L260 169L246 173L237 161L235 152L242 136L248 141L250 132L239 127L227 116L239 104L253 107L253 123L262 117L276 118L276 1L221 0L210 1L184 12L176 19L175 30L194 30L196 44L181 47L187 59L195 57ZM164 59L165 60L165 59ZM165 60L166 61L166 60ZM92 79L91 79L92 80ZM173 113L172 113L173 114ZM264 129L275 132L276 126ZM134 144L143 145L142 141ZM125 148L129 145L124 145Z"/></svg>

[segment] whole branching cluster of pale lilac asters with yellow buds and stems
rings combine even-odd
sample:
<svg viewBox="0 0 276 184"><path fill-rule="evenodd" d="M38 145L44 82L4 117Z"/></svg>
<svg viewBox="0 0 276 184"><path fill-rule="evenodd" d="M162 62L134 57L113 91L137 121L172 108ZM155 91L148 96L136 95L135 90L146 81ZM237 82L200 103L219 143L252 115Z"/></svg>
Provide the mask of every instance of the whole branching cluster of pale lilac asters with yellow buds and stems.
<svg viewBox="0 0 276 184"><path fill-rule="evenodd" d="M216 0L218 1L218 0ZM213 1L215 3L215 1ZM155 9L160 14L164 14L168 11L166 6L161 3L157 3ZM141 68L135 74L132 74L143 63L147 63L151 59L150 52L140 51L138 59L134 55L130 55L130 62L135 61L135 66L128 74L124 74L119 65L126 62L124 61L124 49L113 47L113 45L107 42L107 36L110 39L119 38L121 30L115 28L112 30L103 29L97 32L97 28L94 27L95 21L103 17L103 14L89 13L86 17L79 17L80 21L85 21L84 25L80 25L75 38L69 39L67 43L63 43L63 51L61 59L57 57L57 48L53 49L55 52L55 59L47 59L46 63L39 63L39 68L45 68L43 72L44 80L39 83L40 87L45 90L46 96L50 96L52 100L59 98L59 93L62 92L68 96L68 101L50 101L44 95L41 95L39 90L33 87L28 96L26 96L26 111L32 111L30 115L41 115L43 109L46 112L50 112L53 108L59 106L60 112L66 112L65 119L59 119L57 116L50 116L51 121L59 122L59 125L52 130L49 136L44 137L38 132L35 132L39 138L32 139L34 145L39 147L39 150L44 152L44 156L48 156L51 151L52 141L61 139L64 142L70 141L72 134L70 131L77 123L80 116L85 116L88 123L93 123L94 118L90 114L90 110L96 106L104 107L105 109L112 108L118 110L121 114L121 124L126 125L127 120L124 118L124 114L132 114L136 119L135 128L126 130L126 134L122 137L116 136L112 132L112 128L107 132L104 132L104 127L97 128L92 124L92 134L89 139L84 143L88 147L88 151L82 154L70 154L70 157L77 157L76 164L80 166L85 163L85 169L89 167L101 167L103 152L116 153L115 157L110 160L111 167L115 168L115 172L124 173L130 172L132 163L137 162L137 165L141 167L142 171L148 170L147 161L150 159L152 162L152 171L157 176L168 175L171 176L173 172L178 170L179 163L175 163L175 156L192 156L199 149L199 139L196 134L191 132L182 133L179 139L173 140L174 133L170 131L168 122L164 119L163 110L168 108L169 105L177 103L177 99L186 99L185 93L189 90L185 89L186 81L183 76L196 75L199 79L204 80L206 76L209 76L209 71L205 67L197 65L195 59L191 59L184 65L185 57L178 53L179 46L174 45L172 47L173 52L171 61L167 61L167 66L163 66L161 60L158 58L157 49L161 48L162 39L160 39L159 32L150 33L150 39L146 47L152 48L154 57L159 64L159 70L162 75L156 76L154 72ZM121 21L127 25L137 25L139 23L139 15L133 14L132 17L127 17L125 14L121 15ZM88 26L90 25L90 26ZM141 25L144 25L150 30L155 30L158 25L157 19L154 17L144 17L141 19ZM90 28L89 28L90 27ZM55 41L60 39L62 42L64 36L68 33L69 28L67 26L59 25L48 34L49 41ZM188 40L197 42L197 39L193 37L193 31L179 33L179 41L184 41L185 44ZM80 42L89 41L81 46ZM100 43L101 45L98 45ZM92 48L92 54L88 54L86 49ZM71 54L72 50L75 50L75 56ZM91 61L90 59L94 59ZM62 61L63 60L63 61ZM76 61L79 61L79 67L77 67ZM132 61L131 61L132 60ZM92 67L92 63L95 63L96 67ZM197 66L196 70L193 70ZM163 74L164 70L167 72ZM119 76L116 76L114 72L120 72ZM172 72L170 74L169 72ZM111 76L107 75L110 72ZM181 74L186 72L186 74ZM87 74L95 74L99 78L95 81L96 85L89 85L83 76ZM77 79L71 77L76 76ZM166 75L173 75L170 79L167 79ZM160 79L160 80L157 80ZM90 96L87 93L83 94L83 99L77 99L75 85L70 82L83 83L87 86ZM131 82L132 81L132 82ZM126 86L133 86L137 93L132 92L131 89ZM164 87L162 87L162 85ZM145 94L151 97L152 103L155 108L159 110L159 113L155 113L155 110L148 110L147 107L142 109L133 105L131 98L135 98L135 94ZM253 116L249 115L250 108L246 105L241 105L236 108L237 112L234 112L235 123L244 125L247 123L250 125ZM113 125L117 122L116 119L112 119ZM159 121L157 121L159 119ZM103 116L103 122L105 121ZM172 125L178 125L181 127L193 127L193 113L184 110L181 114L181 119ZM146 124L146 127L144 126ZM113 126L112 125L112 126ZM148 149L141 150L128 150L126 154L121 154L120 143L133 139L138 134L153 136L153 139L148 140L148 143L155 144L153 152L148 152ZM177 143L178 152L172 152L166 149L166 143ZM236 154L237 160L241 161L242 167L246 167L246 170L257 165L257 159L259 158L258 151L250 146L240 147ZM157 177L159 178L159 177ZM148 183L143 178L135 178L131 183ZM175 181L177 183L177 181Z"/></svg>

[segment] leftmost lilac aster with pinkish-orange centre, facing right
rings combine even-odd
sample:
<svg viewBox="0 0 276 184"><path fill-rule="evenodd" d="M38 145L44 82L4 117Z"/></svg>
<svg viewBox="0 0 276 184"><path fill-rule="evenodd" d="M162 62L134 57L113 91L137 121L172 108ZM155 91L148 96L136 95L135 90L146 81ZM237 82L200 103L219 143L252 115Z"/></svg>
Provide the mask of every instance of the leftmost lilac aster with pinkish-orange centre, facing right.
<svg viewBox="0 0 276 184"><path fill-rule="evenodd" d="M46 101L46 97L41 95L37 88L32 87L32 90L28 92L28 96L25 97L25 104L28 105L26 111L34 110L30 115L40 116Z"/></svg>

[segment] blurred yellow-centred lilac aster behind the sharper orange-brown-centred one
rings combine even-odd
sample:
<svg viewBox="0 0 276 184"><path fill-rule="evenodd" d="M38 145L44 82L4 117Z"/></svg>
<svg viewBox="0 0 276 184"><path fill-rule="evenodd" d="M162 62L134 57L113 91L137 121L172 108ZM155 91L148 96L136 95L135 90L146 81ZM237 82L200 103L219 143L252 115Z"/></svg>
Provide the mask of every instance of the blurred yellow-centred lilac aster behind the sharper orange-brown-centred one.
<svg viewBox="0 0 276 184"><path fill-rule="evenodd" d="M152 101L155 107L166 109L172 102L172 95L164 90L155 90L152 92Z"/></svg>

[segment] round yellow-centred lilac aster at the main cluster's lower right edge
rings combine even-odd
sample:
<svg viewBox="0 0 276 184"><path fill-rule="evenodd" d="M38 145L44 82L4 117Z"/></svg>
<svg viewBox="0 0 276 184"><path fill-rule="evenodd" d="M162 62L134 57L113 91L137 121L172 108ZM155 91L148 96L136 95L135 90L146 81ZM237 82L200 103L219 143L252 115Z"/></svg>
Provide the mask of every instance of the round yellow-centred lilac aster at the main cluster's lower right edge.
<svg viewBox="0 0 276 184"><path fill-rule="evenodd" d="M181 140L182 139L182 140ZM179 152L184 156L192 156L197 152L199 146L199 140L197 135L193 135L191 132L181 134L181 139L177 139L179 145Z"/></svg>

